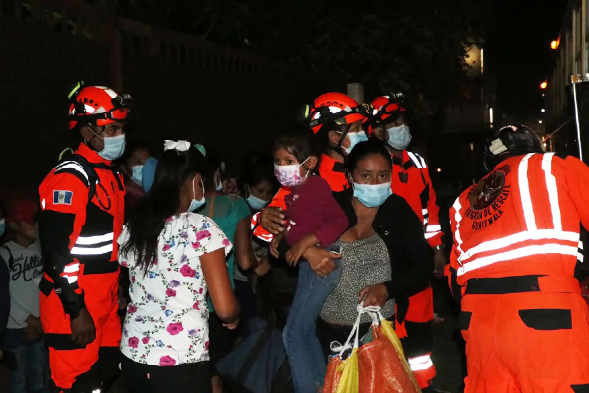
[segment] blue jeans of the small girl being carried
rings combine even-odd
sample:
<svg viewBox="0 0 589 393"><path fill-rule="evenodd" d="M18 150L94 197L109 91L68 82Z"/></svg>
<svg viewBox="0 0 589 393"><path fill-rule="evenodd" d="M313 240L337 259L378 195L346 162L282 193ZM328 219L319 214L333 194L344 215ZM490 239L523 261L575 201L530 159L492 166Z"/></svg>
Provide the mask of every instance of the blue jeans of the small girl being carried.
<svg viewBox="0 0 589 393"><path fill-rule="evenodd" d="M327 362L315 329L323 303L339 281L340 261L333 262L336 269L327 277L318 276L308 262L299 264L299 283L282 333L295 393L315 393L325 381Z"/></svg>

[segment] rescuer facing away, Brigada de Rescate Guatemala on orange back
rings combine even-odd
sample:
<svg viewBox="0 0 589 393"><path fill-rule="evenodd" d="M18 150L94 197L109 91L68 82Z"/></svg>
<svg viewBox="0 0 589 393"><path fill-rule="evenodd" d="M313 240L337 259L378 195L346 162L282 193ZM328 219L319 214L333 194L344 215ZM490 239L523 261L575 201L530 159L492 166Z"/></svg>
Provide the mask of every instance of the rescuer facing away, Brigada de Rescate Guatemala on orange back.
<svg viewBox="0 0 589 393"><path fill-rule="evenodd" d="M544 153L523 126L498 130L484 158L491 173L450 209L464 391L587 392L589 316L575 272L589 168Z"/></svg>

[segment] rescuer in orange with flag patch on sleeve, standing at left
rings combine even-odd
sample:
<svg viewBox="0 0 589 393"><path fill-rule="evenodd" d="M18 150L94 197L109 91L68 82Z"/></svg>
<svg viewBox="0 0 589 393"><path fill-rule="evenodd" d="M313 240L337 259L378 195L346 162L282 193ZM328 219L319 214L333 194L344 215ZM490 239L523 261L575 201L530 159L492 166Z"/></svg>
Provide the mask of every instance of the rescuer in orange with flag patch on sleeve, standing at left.
<svg viewBox="0 0 589 393"><path fill-rule="evenodd" d="M111 161L125 149L131 97L78 82L69 98L70 130L83 141L39 186L41 323L54 384L62 392L100 393L119 364L117 238L125 189Z"/></svg>

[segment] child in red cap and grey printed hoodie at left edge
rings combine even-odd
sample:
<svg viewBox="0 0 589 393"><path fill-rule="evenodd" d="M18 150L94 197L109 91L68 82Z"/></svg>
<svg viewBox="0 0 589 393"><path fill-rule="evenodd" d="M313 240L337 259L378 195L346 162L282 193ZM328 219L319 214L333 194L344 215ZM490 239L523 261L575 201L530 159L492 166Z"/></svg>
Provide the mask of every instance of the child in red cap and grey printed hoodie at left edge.
<svg viewBox="0 0 589 393"><path fill-rule="evenodd" d="M36 210L37 203L25 193L12 197L6 209L12 240L0 247L0 263L9 270L10 316L2 349L11 392L49 392L49 354L39 319L38 285L43 265Z"/></svg>

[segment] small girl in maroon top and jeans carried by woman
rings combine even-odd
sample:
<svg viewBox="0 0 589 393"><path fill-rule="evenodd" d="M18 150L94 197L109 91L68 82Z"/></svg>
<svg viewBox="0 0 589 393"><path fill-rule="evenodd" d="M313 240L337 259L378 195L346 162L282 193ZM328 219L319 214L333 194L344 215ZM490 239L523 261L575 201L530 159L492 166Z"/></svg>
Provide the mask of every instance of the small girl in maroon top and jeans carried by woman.
<svg viewBox="0 0 589 393"><path fill-rule="evenodd" d="M284 232L274 236L270 249L279 256L279 242L289 249L284 253L290 265L299 265L299 283L290 308L283 342L293 377L295 392L315 392L325 379L326 361L315 335L315 321L327 296L339 280L336 270L327 277L313 272L302 260L309 247L332 246L348 227L348 219L332 196L327 181L314 174L320 157L316 138L308 129L296 129L279 135L274 141L274 174L292 191L285 198ZM281 247L282 248L282 247Z"/></svg>

